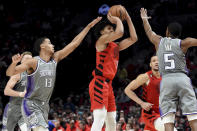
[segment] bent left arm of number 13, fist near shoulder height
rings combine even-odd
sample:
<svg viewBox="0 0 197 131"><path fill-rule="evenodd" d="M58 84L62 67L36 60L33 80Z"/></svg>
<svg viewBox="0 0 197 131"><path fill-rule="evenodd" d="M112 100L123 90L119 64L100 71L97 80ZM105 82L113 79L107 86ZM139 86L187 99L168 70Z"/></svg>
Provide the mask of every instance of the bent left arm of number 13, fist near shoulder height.
<svg viewBox="0 0 197 131"><path fill-rule="evenodd" d="M14 55L12 57L12 63L6 71L7 76L13 76L24 71L27 71L28 74L31 74L33 71L36 70L37 60L34 58L26 60L24 63L17 65L21 61L22 57L23 56L20 54Z"/></svg>

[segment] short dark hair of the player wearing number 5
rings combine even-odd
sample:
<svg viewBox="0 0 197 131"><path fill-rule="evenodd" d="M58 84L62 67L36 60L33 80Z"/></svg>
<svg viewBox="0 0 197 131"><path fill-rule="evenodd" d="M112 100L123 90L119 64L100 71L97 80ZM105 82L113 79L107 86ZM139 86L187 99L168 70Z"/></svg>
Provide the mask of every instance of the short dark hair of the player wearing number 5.
<svg viewBox="0 0 197 131"><path fill-rule="evenodd" d="M182 26L178 22L172 22L168 25L168 32L174 38L179 38L182 32Z"/></svg>

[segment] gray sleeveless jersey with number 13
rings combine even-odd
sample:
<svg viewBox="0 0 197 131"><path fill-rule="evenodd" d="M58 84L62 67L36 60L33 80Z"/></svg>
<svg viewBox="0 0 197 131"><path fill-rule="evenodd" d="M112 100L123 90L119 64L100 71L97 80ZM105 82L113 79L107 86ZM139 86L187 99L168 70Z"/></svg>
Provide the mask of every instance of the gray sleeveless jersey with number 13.
<svg viewBox="0 0 197 131"><path fill-rule="evenodd" d="M27 77L27 93L25 98L48 103L53 92L57 63L51 59L45 62L39 56L37 68Z"/></svg>

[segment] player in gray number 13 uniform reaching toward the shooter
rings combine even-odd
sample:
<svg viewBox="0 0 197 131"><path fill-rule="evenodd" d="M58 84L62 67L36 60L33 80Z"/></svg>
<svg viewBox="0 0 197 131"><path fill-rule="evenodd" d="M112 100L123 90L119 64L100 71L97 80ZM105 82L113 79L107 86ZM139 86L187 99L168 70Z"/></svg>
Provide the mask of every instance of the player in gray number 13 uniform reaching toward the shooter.
<svg viewBox="0 0 197 131"><path fill-rule="evenodd" d="M54 88L57 63L73 52L84 39L88 31L101 17L89 23L62 50L54 52L54 45L48 38L40 38L35 42L35 49L39 56L34 57L17 66L22 55L14 55L12 63L7 69L7 76L27 71L27 93L22 103L22 113L29 128L34 131L48 131L49 100Z"/></svg>

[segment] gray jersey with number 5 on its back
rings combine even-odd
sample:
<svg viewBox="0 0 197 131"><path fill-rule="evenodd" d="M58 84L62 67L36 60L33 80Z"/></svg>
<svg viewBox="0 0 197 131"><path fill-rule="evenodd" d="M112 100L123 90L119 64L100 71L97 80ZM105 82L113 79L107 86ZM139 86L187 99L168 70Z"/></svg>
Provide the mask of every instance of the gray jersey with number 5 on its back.
<svg viewBox="0 0 197 131"><path fill-rule="evenodd" d="M157 56L159 59L159 71L162 75L187 73L185 54L180 45L180 39L161 38Z"/></svg>

